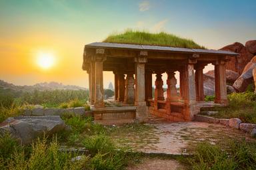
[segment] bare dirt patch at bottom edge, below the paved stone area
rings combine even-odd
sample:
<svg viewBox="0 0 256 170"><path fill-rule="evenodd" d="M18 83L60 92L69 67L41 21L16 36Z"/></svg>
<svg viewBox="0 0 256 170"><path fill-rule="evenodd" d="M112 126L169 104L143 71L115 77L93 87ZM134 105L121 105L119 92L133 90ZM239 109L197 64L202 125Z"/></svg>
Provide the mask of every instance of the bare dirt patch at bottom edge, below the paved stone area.
<svg viewBox="0 0 256 170"><path fill-rule="evenodd" d="M127 170L176 170L184 169L174 159L145 159L142 163L127 167Z"/></svg>

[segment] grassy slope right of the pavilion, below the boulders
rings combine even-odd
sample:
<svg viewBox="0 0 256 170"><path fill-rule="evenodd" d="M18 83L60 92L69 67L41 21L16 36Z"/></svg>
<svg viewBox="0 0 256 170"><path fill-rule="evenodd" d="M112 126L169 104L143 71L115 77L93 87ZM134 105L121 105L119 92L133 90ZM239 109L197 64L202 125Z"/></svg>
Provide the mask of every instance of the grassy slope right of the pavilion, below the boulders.
<svg viewBox="0 0 256 170"><path fill-rule="evenodd" d="M242 122L256 124L256 94L253 92L233 93L228 95L229 106L207 108L202 111L218 111L214 118L239 118Z"/></svg>

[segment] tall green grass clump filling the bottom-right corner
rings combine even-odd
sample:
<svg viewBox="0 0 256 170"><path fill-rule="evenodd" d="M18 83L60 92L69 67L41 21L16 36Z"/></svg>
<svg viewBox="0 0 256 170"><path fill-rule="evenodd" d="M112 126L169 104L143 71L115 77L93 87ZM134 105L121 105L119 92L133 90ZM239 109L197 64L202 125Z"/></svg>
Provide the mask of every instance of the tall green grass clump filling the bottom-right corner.
<svg viewBox="0 0 256 170"><path fill-rule="evenodd" d="M225 140L217 145L202 142L189 163L195 170L256 169L256 145L243 141Z"/></svg>

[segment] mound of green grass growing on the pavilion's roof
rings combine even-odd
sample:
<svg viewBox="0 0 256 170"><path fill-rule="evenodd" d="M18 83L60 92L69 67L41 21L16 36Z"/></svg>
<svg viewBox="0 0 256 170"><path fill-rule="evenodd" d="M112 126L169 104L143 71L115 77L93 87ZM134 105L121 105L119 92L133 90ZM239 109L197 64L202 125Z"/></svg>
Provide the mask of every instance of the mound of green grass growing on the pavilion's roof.
<svg viewBox="0 0 256 170"><path fill-rule="evenodd" d="M191 39L183 39L176 35L164 32L149 33L146 31L127 30L124 33L114 33L109 35L109 37L107 37L103 42L205 49L204 46L200 46Z"/></svg>

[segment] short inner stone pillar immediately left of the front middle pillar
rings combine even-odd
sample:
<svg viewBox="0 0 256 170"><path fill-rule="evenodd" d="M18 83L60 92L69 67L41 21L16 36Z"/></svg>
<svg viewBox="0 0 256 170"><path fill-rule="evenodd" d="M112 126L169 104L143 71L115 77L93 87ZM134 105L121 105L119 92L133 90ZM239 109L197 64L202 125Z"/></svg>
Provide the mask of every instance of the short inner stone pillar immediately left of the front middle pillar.
<svg viewBox="0 0 256 170"><path fill-rule="evenodd" d="M134 82L133 74L127 74L125 80L125 103L127 104L134 103Z"/></svg>

